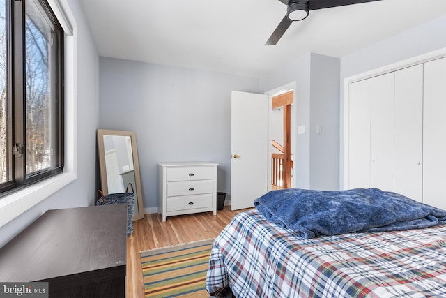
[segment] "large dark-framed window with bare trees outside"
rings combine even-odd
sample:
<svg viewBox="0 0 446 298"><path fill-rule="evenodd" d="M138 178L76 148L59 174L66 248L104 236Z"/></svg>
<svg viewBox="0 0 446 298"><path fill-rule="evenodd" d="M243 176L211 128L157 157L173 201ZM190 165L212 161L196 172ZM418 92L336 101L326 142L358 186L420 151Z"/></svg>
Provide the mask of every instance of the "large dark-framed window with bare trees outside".
<svg viewBox="0 0 446 298"><path fill-rule="evenodd" d="M0 0L0 192L63 169L63 30L45 0Z"/></svg>

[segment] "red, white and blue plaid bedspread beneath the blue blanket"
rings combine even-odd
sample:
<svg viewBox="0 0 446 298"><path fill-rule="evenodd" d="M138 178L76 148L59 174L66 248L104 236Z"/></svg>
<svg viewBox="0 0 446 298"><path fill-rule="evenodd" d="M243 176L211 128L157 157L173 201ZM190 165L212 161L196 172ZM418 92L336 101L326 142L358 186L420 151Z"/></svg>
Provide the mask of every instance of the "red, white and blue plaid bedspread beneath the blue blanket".
<svg viewBox="0 0 446 298"><path fill-rule="evenodd" d="M215 239L206 290L224 297L446 297L446 225L302 239L256 210Z"/></svg>

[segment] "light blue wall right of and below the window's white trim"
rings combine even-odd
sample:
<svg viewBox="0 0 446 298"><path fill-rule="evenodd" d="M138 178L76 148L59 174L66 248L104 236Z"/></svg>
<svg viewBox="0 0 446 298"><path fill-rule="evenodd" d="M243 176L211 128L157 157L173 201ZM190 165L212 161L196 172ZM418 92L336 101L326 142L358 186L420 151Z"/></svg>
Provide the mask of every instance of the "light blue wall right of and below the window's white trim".
<svg viewBox="0 0 446 298"><path fill-rule="evenodd" d="M48 209L92 205L95 198L99 119L99 57L77 0L68 0L77 22L77 179L0 228L0 247Z"/></svg>

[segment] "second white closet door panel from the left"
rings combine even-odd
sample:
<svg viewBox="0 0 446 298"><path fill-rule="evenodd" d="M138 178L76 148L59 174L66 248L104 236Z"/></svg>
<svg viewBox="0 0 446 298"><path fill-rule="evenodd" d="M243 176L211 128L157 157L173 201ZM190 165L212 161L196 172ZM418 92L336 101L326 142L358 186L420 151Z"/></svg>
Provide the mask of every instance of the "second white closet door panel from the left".
<svg viewBox="0 0 446 298"><path fill-rule="evenodd" d="M370 184L394 191L394 73L371 79Z"/></svg>

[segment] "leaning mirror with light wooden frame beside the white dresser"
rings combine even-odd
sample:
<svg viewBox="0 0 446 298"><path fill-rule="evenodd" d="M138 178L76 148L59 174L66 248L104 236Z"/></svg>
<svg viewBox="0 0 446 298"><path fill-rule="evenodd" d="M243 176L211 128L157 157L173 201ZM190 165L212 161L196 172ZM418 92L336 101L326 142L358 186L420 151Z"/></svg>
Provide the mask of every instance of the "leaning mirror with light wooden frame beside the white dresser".
<svg viewBox="0 0 446 298"><path fill-rule="evenodd" d="M144 218L136 134L98 129L98 156L102 192L125 193L131 183L135 193L133 221Z"/></svg>

